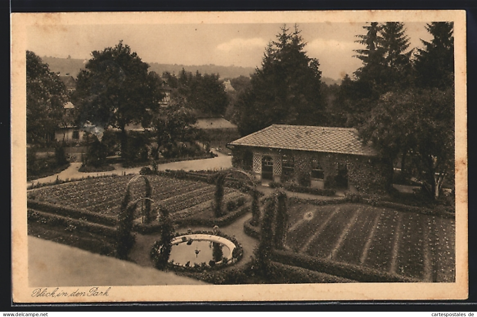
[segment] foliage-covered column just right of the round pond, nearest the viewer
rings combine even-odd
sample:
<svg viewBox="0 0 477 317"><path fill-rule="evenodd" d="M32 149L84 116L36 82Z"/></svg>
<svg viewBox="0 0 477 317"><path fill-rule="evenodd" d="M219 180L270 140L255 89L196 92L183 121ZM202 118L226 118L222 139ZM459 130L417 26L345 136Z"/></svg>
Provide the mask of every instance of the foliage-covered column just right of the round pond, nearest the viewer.
<svg viewBox="0 0 477 317"><path fill-rule="evenodd" d="M277 203L276 194L268 197L265 204L264 214L262 218L262 226L260 230L260 243L255 251L258 269L263 276L267 275L267 262L270 258L274 234L273 234L273 218L275 216L275 208Z"/></svg>

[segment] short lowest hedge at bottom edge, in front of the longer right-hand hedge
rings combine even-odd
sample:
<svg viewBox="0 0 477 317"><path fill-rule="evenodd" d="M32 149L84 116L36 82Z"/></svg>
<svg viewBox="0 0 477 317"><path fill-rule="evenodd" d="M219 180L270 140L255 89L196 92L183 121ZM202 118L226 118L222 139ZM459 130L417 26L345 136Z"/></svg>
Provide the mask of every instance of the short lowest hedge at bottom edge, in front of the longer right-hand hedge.
<svg viewBox="0 0 477 317"><path fill-rule="evenodd" d="M309 270L299 266L290 266L270 261L267 264L270 278L274 283L356 283L356 281Z"/></svg>

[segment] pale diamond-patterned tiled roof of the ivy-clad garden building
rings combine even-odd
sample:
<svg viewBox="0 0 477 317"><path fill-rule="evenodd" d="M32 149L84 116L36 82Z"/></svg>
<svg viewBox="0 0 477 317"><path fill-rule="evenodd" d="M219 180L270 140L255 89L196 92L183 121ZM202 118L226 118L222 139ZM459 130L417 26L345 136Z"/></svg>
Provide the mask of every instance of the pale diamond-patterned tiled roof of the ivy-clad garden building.
<svg viewBox="0 0 477 317"><path fill-rule="evenodd" d="M273 124L229 143L313 152L376 155L353 128Z"/></svg>

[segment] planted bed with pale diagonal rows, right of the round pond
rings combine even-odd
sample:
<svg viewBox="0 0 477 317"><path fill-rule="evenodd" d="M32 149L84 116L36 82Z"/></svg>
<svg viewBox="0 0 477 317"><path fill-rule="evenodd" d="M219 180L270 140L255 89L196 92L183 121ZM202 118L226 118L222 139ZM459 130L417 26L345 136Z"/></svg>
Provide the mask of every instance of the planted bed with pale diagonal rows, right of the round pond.
<svg viewBox="0 0 477 317"><path fill-rule="evenodd" d="M290 205L286 248L424 281L455 281L453 219L362 204Z"/></svg>

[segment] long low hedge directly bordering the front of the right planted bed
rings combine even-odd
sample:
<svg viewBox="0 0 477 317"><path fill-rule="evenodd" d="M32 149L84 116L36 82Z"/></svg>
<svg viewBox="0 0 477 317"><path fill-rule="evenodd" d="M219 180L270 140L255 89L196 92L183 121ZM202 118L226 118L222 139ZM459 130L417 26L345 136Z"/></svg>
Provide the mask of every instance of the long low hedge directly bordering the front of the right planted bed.
<svg viewBox="0 0 477 317"><path fill-rule="evenodd" d="M391 274L364 266L337 262L325 258L297 254L290 251L272 250L270 260L289 266L298 266L305 269L340 276L358 282L422 282L421 280Z"/></svg>

